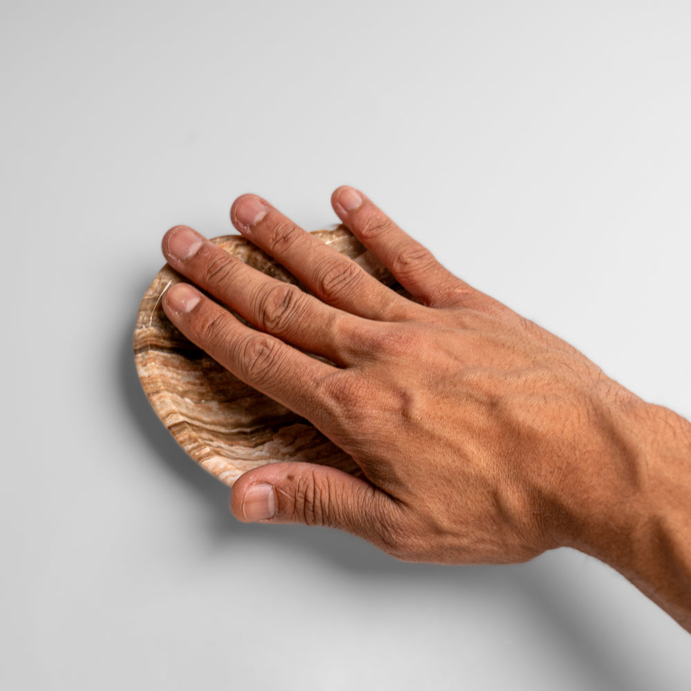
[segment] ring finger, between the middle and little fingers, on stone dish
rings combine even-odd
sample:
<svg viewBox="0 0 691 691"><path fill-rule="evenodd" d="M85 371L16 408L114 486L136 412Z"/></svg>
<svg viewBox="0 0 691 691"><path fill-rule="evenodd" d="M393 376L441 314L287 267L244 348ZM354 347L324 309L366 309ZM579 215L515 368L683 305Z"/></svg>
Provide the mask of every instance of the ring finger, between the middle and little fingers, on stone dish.
<svg viewBox="0 0 691 691"><path fill-rule="evenodd" d="M230 218L243 236L328 305L366 319L392 321L411 304L254 194L238 197Z"/></svg>

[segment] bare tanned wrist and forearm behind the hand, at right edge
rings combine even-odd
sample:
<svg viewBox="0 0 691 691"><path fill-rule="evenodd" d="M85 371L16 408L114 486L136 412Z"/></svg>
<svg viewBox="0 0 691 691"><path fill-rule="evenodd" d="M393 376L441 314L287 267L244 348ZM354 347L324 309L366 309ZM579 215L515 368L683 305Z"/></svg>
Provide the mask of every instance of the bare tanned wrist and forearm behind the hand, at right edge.
<svg viewBox="0 0 691 691"><path fill-rule="evenodd" d="M606 562L691 632L691 424L671 410L627 406L621 452L634 473L584 522L574 545Z"/></svg>

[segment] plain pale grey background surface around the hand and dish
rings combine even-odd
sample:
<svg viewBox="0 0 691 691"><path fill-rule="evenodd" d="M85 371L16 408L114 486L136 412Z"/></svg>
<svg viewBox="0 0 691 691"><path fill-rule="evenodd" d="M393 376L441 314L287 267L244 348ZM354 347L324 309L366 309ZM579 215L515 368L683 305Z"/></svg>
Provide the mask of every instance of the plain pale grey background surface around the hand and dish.
<svg viewBox="0 0 691 691"><path fill-rule="evenodd" d="M353 184L466 281L691 416L691 3L3 0L0 685L681 690L611 569L407 565L239 524L131 337L160 238Z"/></svg>

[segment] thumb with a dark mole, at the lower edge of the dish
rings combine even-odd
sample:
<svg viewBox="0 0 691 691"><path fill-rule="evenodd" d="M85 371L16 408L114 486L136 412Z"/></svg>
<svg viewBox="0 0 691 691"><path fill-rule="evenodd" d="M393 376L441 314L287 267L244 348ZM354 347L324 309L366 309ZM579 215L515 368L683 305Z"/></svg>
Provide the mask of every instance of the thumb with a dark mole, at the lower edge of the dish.
<svg viewBox="0 0 691 691"><path fill-rule="evenodd" d="M404 522L399 504L366 480L311 463L268 464L241 475L230 508L245 522L339 528L386 551L395 549L397 526Z"/></svg>

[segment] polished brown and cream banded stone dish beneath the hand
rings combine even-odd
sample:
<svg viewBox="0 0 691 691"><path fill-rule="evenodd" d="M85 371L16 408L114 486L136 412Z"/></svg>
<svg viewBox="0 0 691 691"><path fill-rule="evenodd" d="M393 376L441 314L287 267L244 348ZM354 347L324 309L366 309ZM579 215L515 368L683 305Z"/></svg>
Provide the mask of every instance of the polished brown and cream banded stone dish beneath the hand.
<svg viewBox="0 0 691 691"><path fill-rule="evenodd" d="M314 235L402 292L387 269L345 227ZM297 284L244 238L223 236L212 241L255 269ZM153 279L137 316L134 357L151 406L184 451L229 486L252 468L281 461L328 464L357 474L352 458L310 422L231 375L173 326L162 310L161 297L180 280L169 265Z"/></svg>

